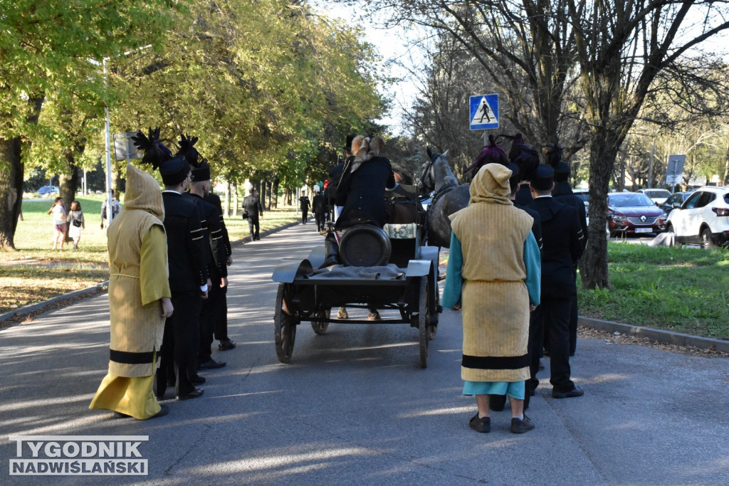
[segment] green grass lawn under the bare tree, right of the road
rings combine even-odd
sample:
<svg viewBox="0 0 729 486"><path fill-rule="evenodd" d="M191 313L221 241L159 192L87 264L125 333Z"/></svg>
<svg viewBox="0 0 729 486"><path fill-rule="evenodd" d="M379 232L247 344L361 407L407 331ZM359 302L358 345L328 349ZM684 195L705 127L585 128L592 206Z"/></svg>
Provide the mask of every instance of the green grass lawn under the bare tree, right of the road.
<svg viewBox="0 0 729 486"><path fill-rule="evenodd" d="M729 339L729 251L608 243L612 289L582 290L580 315Z"/></svg>

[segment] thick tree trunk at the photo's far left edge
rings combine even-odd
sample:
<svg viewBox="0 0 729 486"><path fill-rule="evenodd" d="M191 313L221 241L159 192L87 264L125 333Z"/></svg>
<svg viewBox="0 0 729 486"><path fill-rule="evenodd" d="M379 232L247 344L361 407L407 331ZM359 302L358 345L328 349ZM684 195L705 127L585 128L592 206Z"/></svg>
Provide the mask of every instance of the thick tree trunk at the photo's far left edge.
<svg viewBox="0 0 729 486"><path fill-rule="evenodd" d="M15 228L23 201L20 138L0 138L0 248L15 250Z"/></svg>

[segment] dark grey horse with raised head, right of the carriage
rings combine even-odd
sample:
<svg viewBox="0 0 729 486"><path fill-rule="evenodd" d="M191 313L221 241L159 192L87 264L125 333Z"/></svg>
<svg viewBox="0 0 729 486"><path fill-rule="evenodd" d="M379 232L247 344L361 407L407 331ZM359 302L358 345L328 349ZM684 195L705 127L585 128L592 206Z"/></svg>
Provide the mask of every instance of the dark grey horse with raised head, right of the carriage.
<svg viewBox="0 0 729 486"><path fill-rule="evenodd" d="M427 149L429 162L424 165L418 183L422 193L434 192L428 206L427 241L430 246L451 248L451 219L448 216L465 208L471 198L470 184L459 184L443 154Z"/></svg>

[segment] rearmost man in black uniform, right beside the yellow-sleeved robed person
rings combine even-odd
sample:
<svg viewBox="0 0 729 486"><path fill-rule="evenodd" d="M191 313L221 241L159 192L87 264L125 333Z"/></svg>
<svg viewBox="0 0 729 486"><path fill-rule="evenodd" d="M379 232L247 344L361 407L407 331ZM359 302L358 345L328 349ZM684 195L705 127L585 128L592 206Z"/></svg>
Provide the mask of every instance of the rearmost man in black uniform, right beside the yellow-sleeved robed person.
<svg viewBox="0 0 729 486"><path fill-rule="evenodd" d="M174 363L175 396L194 399L203 394L195 385L198 377L198 329L203 298L208 296L208 270L203 246L203 227L195 204L182 198L190 180L190 165L184 157L174 157L160 165L165 190L165 232L170 267L170 290L176 310L165 323L165 341L160 369L157 370L157 396L163 396L171 364Z"/></svg>

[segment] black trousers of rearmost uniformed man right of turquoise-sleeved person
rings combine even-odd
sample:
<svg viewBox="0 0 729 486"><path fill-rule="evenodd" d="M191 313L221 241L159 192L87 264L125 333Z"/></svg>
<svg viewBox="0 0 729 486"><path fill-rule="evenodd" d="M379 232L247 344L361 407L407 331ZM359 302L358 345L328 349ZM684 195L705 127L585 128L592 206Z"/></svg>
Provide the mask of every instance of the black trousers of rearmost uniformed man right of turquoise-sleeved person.
<svg viewBox="0 0 729 486"><path fill-rule="evenodd" d="M556 391L571 391L569 368L569 315L574 297L553 298L542 296L535 313L541 316L550 346L550 383ZM539 360L537 359L537 366Z"/></svg>

